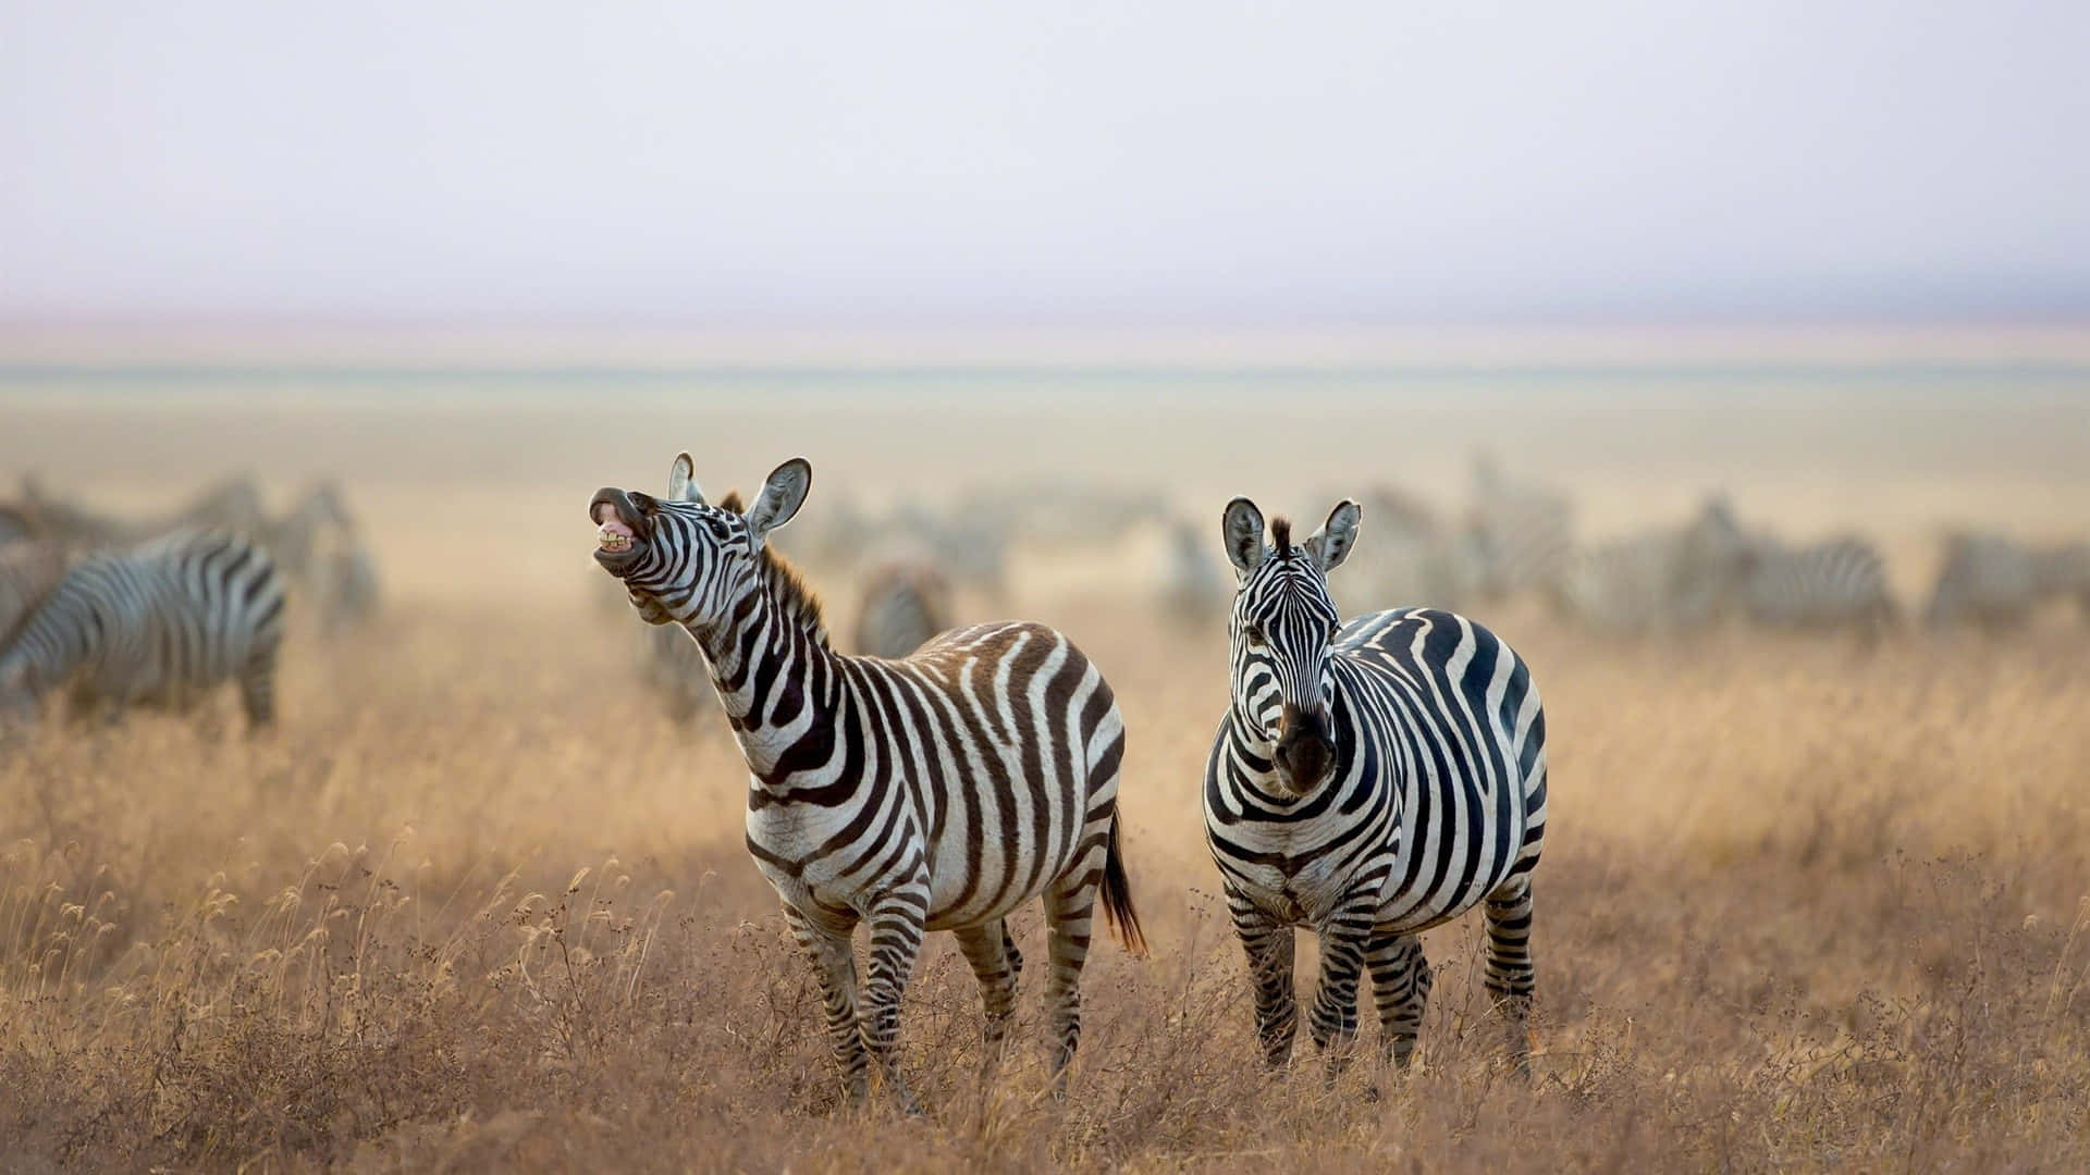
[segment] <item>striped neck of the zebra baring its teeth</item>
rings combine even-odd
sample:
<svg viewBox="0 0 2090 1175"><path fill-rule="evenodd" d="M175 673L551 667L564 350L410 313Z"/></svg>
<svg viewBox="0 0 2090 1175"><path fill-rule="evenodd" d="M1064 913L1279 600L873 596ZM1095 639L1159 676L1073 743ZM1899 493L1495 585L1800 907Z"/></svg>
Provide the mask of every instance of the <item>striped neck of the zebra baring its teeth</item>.
<svg viewBox="0 0 2090 1175"><path fill-rule="evenodd" d="M809 730L832 730L842 711L840 656L826 633L800 623L767 592L754 592L734 619L700 629L686 625L704 650L711 684L734 725L748 771L765 788L788 790L788 751Z"/></svg>

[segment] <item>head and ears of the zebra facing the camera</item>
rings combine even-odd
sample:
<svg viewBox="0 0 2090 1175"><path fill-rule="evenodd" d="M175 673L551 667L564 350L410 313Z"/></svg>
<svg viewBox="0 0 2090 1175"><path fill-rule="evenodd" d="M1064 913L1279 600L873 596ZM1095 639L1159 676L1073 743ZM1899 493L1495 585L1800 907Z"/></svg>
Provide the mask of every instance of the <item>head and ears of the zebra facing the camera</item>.
<svg viewBox="0 0 2090 1175"><path fill-rule="evenodd" d="M1248 498L1227 502L1223 537L1237 573L1231 636L1233 721L1271 748L1277 784L1294 794L1321 786L1336 767L1329 736L1331 642L1340 627L1327 573L1356 544L1356 502L1340 502L1304 544L1292 523L1262 535L1262 510Z"/></svg>

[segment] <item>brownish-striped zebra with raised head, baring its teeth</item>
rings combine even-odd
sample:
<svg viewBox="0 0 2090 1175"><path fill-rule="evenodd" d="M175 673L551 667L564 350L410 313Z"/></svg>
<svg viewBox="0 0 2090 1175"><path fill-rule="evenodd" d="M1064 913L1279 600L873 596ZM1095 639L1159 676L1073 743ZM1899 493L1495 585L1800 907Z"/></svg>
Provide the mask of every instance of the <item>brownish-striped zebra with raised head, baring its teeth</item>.
<svg viewBox="0 0 2090 1175"><path fill-rule="evenodd" d="M943 633L903 661L844 656L819 604L767 537L805 504L813 466L780 464L752 506L606 487L589 502L596 560L648 623L679 623L748 763L748 853L819 978L846 1096L897 1066L899 1006L926 930L951 930L999 1056L1022 953L1005 918L1043 897L1055 1089L1081 1041L1091 914L1145 953L1120 851L1124 721L1095 665L1037 623ZM869 924L857 989L851 935Z"/></svg>

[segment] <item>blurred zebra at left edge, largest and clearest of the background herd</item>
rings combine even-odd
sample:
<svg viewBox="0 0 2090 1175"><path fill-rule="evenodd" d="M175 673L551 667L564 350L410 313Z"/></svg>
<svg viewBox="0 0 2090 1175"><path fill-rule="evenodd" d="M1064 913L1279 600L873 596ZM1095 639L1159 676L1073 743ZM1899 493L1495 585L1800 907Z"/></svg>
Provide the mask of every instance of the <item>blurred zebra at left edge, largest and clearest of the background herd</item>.
<svg viewBox="0 0 2090 1175"><path fill-rule="evenodd" d="M23 711L67 682L75 717L100 705L188 709L238 679L249 732L276 719L284 585L249 537L178 531L75 562L0 638L0 709Z"/></svg>

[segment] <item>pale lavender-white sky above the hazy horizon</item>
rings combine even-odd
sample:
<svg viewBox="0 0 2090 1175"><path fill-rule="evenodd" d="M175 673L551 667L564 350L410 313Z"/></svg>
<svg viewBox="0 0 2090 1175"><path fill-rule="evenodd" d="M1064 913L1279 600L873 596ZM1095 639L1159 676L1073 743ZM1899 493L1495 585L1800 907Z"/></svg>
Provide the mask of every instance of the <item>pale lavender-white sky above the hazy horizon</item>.
<svg viewBox="0 0 2090 1175"><path fill-rule="evenodd" d="M2090 4L0 0L0 318L2090 318Z"/></svg>

